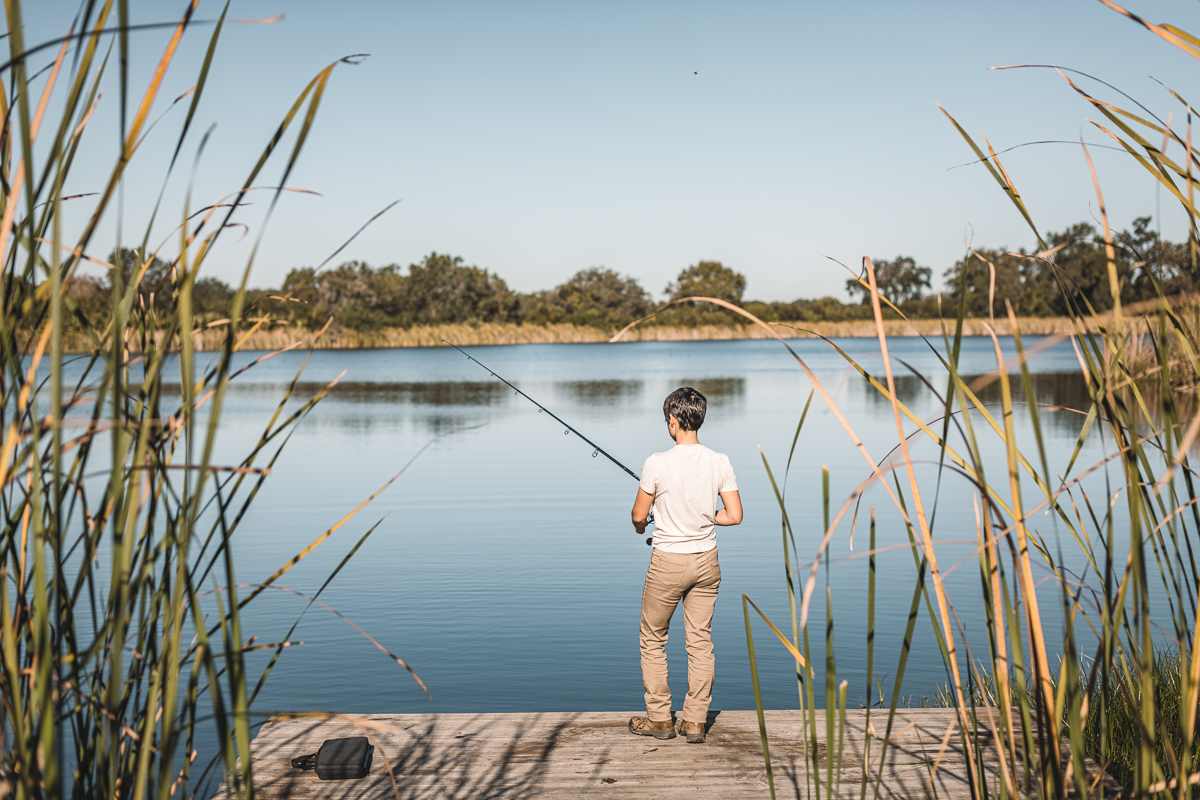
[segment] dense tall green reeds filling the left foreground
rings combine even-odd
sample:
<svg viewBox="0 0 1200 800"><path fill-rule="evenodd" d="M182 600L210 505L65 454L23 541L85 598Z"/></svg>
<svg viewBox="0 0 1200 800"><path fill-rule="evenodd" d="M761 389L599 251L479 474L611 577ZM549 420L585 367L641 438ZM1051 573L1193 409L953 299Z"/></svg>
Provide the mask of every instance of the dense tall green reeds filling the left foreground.
<svg viewBox="0 0 1200 800"><path fill-rule="evenodd" d="M212 19L199 18L197 6L185 4L181 18L167 23L131 25L125 2L82 4L73 20L64 20L62 38L31 44L23 4L5 2L0 796L164 800L221 781L233 795L250 795L254 702L294 643L290 633L256 639L245 626L246 608L264 591L281 589L298 563L374 497L314 530L312 543L290 559L281 554L274 573L238 572L233 549L246 512L290 432L328 390L292 403L290 390L281 392L245 452L215 461L230 381L270 355L236 372L232 367L260 325L244 313L253 252L287 191L330 76L348 60L298 80L298 94L280 103L275 134L248 154L245 176L228 196L193 198L180 181L205 168L205 137L190 133L211 94L209 70L222 34L235 24L228 5ZM127 166L140 160L146 137L169 136L167 125L155 124L168 107L163 79L181 42L193 36L208 44L192 88L175 102L180 125L161 184L163 191L188 186L186 199L168 209L160 192L149 219L113 225ZM131 53L148 41L162 48L161 56L149 74L136 76L128 65L140 59ZM118 104L119 152L94 192L64 197L80 149L92 161L109 152L112 131L94 130L102 95ZM254 247L229 321L209 342L218 355L202 369L192 288L229 230L244 230L240 210L252 192L259 207L270 210L251 233ZM72 216L70 235L61 213L68 200L76 211L85 209ZM102 246L96 235L102 227L143 245L152 233L172 230L158 249L146 249L172 265L170 302L140 301L149 257L128 279L113 270L107 312L71 319L90 335L82 355L70 356L65 331L76 309L64 287L85 263L109 269L89 254ZM164 391L168 384L179 390ZM346 549L353 553L371 530ZM253 651L270 655L258 673L247 668Z"/></svg>

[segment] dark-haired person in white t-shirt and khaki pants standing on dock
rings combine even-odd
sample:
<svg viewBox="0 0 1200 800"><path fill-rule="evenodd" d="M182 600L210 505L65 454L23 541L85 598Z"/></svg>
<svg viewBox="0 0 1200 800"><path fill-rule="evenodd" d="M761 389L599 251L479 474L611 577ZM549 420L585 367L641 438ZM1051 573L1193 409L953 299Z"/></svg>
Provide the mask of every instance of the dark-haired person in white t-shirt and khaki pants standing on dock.
<svg viewBox="0 0 1200 800"><path fill-rule="evenodd" d="M704 741L713 699L713 609L721 585L716 527L742 522L742 495L728 457L700 444L700 426L707 410L704 396L691 386L667 395L662 417L674 446L646 459L631 513L634 530L642 534L654 509L650 565L642 590L646 716L632 717L629 732L655 739L676 735L666 644L671 616L682 603L688 696L678 732L691 744Z"/></svg>

